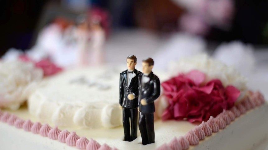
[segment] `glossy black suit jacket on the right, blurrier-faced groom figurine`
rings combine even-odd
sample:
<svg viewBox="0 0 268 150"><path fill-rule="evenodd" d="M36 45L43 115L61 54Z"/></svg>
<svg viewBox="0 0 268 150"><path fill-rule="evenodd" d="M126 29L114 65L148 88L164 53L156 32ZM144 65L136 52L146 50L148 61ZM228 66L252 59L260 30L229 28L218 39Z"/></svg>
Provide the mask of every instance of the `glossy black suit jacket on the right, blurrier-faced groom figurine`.
<svg viewBox="0 0 268 150"><path fill-rule="evenodd" d="M138 76L139 80L139 110L143 113L155 112L154 101L160 95L160 81L159 78L151 72L148 77L150 80L146 83L141 82L143 73ZM144 85L142 85L144 84ZM147 105L141 105L141 99L145 99Z"/></svg>

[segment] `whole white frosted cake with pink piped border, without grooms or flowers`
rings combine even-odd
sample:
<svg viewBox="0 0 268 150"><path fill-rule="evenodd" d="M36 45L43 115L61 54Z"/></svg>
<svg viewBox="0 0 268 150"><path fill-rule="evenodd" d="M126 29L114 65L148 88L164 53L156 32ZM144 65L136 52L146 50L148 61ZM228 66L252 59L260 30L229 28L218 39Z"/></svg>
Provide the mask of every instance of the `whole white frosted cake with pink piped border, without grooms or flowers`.
<svg viewBox="0 0 268 150"><path fill-rule="evenodd" d="M241 80L233 85L241 85L235 87L243 91L243 96L240 93L239 101L214 118L208 116L209 120L202 123L190 122L188 118L158 118L154 124L155 143L142 145L139 132L134 141L123 141L122 111L118 104L121 71L82 68L44 79L30 94L27 105L16 111L0 111L0 148L244 150L257 149L267 140L268 105L259 92L245 89ZM162 83L169 79L168 75L155 74ZM161 90L164 92L155 102L155 116L163 117L169 104L165 88Z"/></svg>

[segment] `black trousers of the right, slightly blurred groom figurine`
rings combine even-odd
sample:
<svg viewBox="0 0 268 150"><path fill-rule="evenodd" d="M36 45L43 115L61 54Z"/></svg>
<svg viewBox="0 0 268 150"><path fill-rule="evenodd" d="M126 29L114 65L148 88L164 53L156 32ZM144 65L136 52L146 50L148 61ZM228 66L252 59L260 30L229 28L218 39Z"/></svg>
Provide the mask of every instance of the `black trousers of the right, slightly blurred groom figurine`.
<svg viewBox="0 0 268 150"><path fill-rule="evenodd" d="M143 145L155 143L154 113L140 112L139 129Z"/></svg>

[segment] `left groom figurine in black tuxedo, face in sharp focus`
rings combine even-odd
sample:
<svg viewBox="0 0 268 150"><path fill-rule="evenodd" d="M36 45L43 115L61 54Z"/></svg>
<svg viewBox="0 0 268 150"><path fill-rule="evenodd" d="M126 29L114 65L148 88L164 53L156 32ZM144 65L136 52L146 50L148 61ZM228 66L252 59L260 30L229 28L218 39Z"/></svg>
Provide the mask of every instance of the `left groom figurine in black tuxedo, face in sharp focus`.
<svg viewBox="0 0 268 150"><path fill-rule="evenodd" d="M136 56L128 56L127 70L123 71L120 74L119 104L120 108L123 109L123 127L125 133L125 141L133 141L137 138L139 93L138 75L141 72L135 69L136 64Z"/></svg>

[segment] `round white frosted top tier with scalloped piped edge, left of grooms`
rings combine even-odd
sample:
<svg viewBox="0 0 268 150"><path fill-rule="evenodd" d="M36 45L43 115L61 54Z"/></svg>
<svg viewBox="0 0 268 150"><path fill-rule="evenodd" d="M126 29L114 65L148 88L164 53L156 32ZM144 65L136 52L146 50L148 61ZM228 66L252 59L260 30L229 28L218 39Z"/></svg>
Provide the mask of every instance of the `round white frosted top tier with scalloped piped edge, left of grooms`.
<svg viewBox="0 0 268 150"><path fill-rule="evenodd" d="M103 77L107 72L109 79ZM78 77L81 82L72 82ZM89 81L94 84L89 85ZM30 95L28 109L40 121L50 121L58 126L120 126L122 110L118 107L118 83L118 72L106 67L68 70L48 77ZM110 88L102 89L99 85Z"/></svg>

